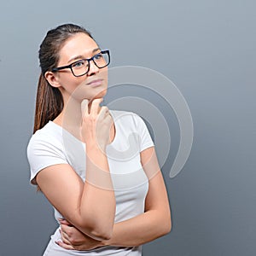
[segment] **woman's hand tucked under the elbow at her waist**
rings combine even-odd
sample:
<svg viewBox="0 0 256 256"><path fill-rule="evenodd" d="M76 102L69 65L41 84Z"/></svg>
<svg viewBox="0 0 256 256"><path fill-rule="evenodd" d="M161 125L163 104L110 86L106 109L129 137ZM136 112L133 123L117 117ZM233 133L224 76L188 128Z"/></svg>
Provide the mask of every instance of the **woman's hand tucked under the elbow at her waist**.
<svg viewBox="0 0 256 256"><path fill-rule="evenodd" d="M60 219L59 221L61 224L61 241L55 241L55 243L60 247L67 250L86 251L104 246L102 241L97 241L90 236L84 235L67 220Z"/></svg>

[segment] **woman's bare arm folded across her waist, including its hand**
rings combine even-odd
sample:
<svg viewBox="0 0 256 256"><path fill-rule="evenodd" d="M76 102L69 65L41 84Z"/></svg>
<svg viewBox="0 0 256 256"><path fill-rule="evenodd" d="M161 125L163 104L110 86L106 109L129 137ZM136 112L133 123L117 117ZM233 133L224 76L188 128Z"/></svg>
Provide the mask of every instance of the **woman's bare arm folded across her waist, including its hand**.
<svg viewBox="0 0 256 256"><path fill-rule="evenodd" d="M145 200L145 212L134 218L114 224L111 239L101 241L97 246L139 246L171 231L171 211L166 185L160 172L154 147L147 148L141 152L141 162L143 170L148 176L148 195ZM79 230L75 230L75 228L71 230L65 224L61 225L61 229L62 239L65 237L65 242L59 243L61 247L66 247L67 249L77 247L76 249L79 248L79 250L89 249L86 236L80 233Z"/></svg>

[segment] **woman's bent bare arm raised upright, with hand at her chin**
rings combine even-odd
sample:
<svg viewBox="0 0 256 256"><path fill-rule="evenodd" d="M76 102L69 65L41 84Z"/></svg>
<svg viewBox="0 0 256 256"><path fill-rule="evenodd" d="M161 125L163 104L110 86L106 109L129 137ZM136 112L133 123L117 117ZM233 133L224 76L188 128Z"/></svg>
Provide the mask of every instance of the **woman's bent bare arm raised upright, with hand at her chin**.
<svg viewBox="0 0 256 256"><path fill-rule="evenodd" d="M112 236L115 198L106 155L112 119L108 108L92 102L84 110L82 136L86 143L86 177L67 164L49 166L38 172L36 181L49 202L84 234L96 240Z"/></svg>

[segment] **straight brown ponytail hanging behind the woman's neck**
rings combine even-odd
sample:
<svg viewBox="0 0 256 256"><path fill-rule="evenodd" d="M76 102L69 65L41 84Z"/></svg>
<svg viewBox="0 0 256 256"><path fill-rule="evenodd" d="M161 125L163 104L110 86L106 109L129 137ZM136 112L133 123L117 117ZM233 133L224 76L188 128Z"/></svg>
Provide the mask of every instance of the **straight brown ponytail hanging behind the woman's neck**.
<svg viewBox="0 0 256 256"><path fill-rule="evenodd" d="M41 73L38 80L33 133L44 127L49 120L54 120L61 113L63 105L61 91L51 86Z"/></svg>

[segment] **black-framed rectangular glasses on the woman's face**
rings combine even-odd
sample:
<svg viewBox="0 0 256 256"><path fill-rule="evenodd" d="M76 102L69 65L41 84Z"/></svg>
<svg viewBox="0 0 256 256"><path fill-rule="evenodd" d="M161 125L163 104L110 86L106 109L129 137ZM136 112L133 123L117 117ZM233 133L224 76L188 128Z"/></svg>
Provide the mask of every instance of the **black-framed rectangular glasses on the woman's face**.
<svg viewBox="0 0 256 256"><path fill-rule="evenodd" d="M84 74L89 72L90 61L93 61L93 63L98 68L107 67L108 64L110 63L109 50L108 49L102 50L101 52L92 56L90 59L82 59L79 61L74 61L70 65L63 66L63 67L55 67L51 71L57 72L65 68L70 68L75 77L81 77L81 76L84 76Z"/></svg>

